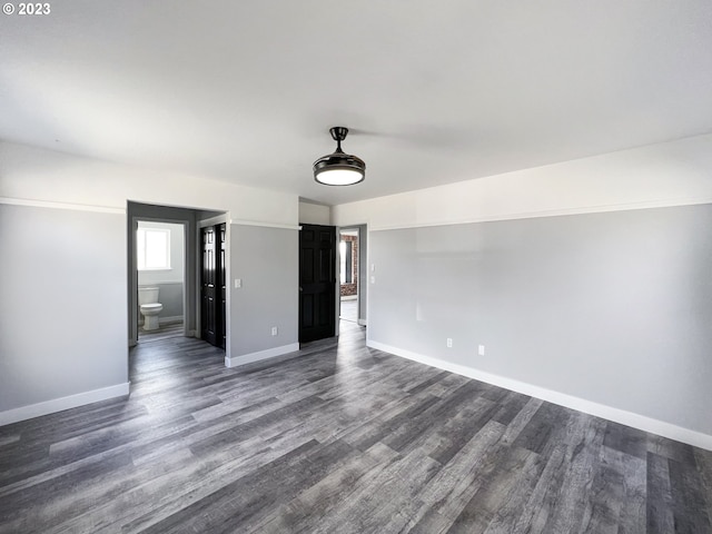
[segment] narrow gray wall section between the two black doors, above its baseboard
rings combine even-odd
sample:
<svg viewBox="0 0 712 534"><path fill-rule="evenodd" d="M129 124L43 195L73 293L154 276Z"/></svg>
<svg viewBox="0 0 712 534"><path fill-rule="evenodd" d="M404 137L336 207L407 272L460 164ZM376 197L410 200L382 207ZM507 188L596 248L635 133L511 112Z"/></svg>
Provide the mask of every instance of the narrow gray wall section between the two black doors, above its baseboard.
<svg viewBox="0 0 712 534"><path fill-rule="evenodd" d="M229 235L230 356L298 343L298 230L231 225Z"/></svg>

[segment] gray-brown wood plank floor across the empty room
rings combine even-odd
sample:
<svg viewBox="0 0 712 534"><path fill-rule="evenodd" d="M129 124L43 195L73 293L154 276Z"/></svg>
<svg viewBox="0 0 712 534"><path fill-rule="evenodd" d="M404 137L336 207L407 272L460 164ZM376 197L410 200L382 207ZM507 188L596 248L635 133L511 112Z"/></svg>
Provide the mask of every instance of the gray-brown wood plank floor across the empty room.
<svg viewBox="0 0 712 534"><path fill-rule="evenodd" d="M712 453L342 328L233 369L141 343L130 398L0 427L0 532L712 532Z"/></svg>

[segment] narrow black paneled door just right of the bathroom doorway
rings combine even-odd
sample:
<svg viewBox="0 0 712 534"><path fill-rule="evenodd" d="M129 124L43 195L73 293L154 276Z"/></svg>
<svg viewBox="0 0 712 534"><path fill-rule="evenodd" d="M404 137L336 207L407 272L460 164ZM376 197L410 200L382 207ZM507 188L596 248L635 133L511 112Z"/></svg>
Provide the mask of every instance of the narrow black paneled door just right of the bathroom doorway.
<svg viewBox="0 0 712 534"><path fill-rule="evenodd" d="M219 345L218 233L215 227L202 228L202 273L200 291L200 334L210 345Z"/></svg>

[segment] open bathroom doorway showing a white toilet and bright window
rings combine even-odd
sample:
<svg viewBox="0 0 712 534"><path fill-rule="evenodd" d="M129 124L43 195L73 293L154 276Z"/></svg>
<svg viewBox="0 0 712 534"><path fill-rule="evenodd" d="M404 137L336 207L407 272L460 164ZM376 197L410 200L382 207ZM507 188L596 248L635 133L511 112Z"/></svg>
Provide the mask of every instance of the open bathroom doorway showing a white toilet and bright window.
<svg viewBox="0 0 712 534"><path fill-rule="evenodd" d="M139 343L184 336L186 235L182 222L137 220Z"/></svg>

